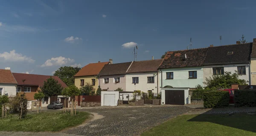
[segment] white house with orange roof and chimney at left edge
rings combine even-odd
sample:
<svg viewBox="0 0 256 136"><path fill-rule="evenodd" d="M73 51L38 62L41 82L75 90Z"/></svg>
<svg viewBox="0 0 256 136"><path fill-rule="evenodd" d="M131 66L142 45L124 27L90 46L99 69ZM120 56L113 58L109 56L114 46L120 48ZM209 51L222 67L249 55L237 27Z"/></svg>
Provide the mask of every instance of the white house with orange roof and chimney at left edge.
<svg viewBox="0 0 256 136"><path fill-rule="evenodd" d="M0 95L16 96L17 81L9 67L0 69Z"/></svg>

